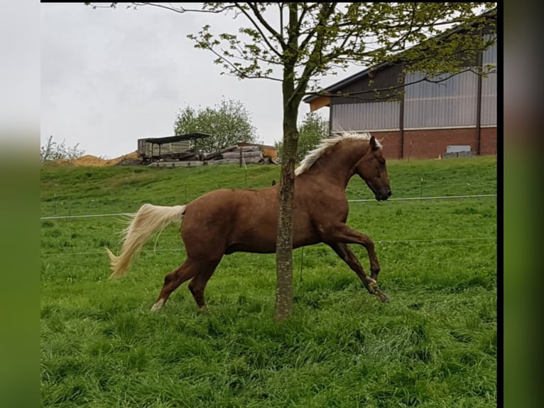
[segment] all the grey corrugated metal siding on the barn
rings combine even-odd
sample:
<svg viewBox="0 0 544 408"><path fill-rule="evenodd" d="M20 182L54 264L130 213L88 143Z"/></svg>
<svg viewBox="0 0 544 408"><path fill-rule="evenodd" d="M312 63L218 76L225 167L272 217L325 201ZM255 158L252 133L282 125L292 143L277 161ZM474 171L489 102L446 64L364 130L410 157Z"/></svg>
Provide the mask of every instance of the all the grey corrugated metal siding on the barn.
<svg viewBox="0 0 544 408"><path fill-rule="evenodd" d="M486 39L491 36L486 35ZM482 63L497 64L497 45L482 55ZM358 92L372 87L396 85L401 70L398 66L377 71L374 79L361 78L342 88L342 92ZM416 82L423 73L406 75L405 83ZM374 83L373 83L374 82ZM371 86L372 84L372 86ZM405 88L404 123L406 130L447 127L476 127L478 76L462 73L439 83L418 82ZM330 104L332 129L344 130L398 130L400 102L372 102L373 94L360 95L368 100L333 97ZM482 78L482 126L496 126L497 78L490 74Z"/></svg>

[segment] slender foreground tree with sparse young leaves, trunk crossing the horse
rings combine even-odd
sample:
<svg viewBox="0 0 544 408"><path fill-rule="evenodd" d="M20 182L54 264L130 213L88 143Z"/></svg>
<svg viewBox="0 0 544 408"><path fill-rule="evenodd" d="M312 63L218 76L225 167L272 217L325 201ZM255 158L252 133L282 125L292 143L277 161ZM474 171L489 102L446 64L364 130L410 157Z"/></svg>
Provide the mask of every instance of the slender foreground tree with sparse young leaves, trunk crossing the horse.
<svg viewBox="0 0 544 408"><path fill-rule="evenodd" d="M241 79L268 78L281 83L283 100L283 160L276 249L276 320L290 313L293 304L293 193L298 146L298 108L308 93L319 93L317 80L352 65L371 67L403 58L404 73L423 71L428 77L464 70L459 55L474 58L491 45L474 36L482 16L496 3L203 3L200 9L186 4L133 3L156 6L183 14L188 11L241 18L231 33L215 36L210 25L190 35L197 48L210 50L224 73ZM115 4L111 4L114 6ZM463 23L464 31L435 40L440 31ZM273 67L279 68L274 70ZM399 78L399 84L402 80ZM402 85L399 85L402 86ZM376 92L373 90L372 92ZM329 95L331 96L331 95ZM340 96L340 95L339 95Z"/></svg>

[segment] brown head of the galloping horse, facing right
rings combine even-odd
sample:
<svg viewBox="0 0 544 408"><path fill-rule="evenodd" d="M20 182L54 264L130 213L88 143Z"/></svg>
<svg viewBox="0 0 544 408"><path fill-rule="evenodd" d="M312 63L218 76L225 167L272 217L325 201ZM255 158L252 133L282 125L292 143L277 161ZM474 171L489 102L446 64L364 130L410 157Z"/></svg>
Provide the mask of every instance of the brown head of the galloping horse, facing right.
<svg viewBox="0 0 544 408"><path fill-rule="evenodd" d="M381 154L381 145L370 138L370 147L364 156L357 162L356 173L372 190L376 200L387 200L391 196L391 186L387 175L386 159Z"/></svg>

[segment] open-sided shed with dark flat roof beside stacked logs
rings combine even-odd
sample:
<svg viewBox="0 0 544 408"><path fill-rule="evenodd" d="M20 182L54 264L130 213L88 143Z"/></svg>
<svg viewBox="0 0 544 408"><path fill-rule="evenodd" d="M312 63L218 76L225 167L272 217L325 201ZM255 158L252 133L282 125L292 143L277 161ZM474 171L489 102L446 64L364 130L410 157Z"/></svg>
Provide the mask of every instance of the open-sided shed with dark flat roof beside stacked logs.
<svg viewBox="0 0 544 408"><path fill-rule="evenodd" d="M185 159L196 154L197 140L210 137L207 133L189 133L176 136L138 139L138 156L144 163Z"/></svg>

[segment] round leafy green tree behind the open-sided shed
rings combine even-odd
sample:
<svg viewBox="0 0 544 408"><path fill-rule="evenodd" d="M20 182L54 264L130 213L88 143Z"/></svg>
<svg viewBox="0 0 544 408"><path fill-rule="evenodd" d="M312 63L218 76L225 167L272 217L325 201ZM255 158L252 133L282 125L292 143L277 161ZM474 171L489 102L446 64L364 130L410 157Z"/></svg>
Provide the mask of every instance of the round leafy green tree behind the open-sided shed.
<svg viewBox="0 0 544 408"><path fill-rule="evenodd" d="M256 141L256 128L251 124L249 112L239 101L222 99L213 108L197 111L192 107L180 109L175 118L174 132L178 134L208 133L212 136L199 139L199 150L212 152L246 141Z"/></svg>

